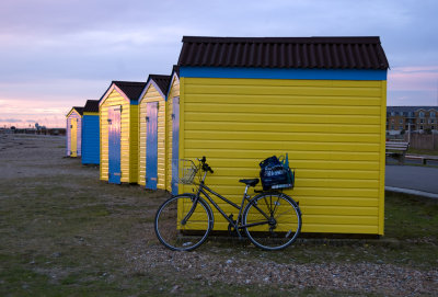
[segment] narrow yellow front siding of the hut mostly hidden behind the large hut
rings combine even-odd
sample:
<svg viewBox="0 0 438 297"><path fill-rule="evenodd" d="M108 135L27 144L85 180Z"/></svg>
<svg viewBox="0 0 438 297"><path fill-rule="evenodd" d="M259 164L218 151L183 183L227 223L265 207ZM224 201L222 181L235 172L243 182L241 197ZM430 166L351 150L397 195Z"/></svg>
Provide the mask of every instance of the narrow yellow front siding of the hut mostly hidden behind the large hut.
<svg viewBox="0 0 438 297"><path fill-rule="evenodd" d="M172 113L173 113L173 99L175 96L180 96L180 79L176 75L173 76L172 85L169 91L168 101L166 101L166 179L165 179L165 190L172 193Z"/></svg>

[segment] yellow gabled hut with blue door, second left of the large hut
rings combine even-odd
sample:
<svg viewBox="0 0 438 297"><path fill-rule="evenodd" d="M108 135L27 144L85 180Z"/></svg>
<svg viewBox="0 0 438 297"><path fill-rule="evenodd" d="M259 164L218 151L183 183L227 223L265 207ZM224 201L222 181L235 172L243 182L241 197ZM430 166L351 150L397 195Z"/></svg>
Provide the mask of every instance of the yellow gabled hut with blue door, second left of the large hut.
<svg viewBox="0 0 438 297"><path fill-rule="evenodd" d="M165 93L170 76L150 75L139 99L138 183L165 190Z"/></svg>

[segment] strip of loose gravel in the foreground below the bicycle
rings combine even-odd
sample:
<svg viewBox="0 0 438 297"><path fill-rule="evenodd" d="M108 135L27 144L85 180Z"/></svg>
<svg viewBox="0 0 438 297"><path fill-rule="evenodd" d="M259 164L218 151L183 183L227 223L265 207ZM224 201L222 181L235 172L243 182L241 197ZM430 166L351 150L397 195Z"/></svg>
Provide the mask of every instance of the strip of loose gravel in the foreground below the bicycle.
<svg viewBox="0 0 438 297"><path fill-rule="evenodd" d="M126 254L136 273L171 269L207 284L274 284L300 289L367 292L384 296L437 296L438 293L437 270L423 272L390 264L339 264L328 261L324 264L283 264L264 260L263 256L239 260L239 254L223 258L197 251L172 252L161 247L147 250L141 247Z"/></svg>

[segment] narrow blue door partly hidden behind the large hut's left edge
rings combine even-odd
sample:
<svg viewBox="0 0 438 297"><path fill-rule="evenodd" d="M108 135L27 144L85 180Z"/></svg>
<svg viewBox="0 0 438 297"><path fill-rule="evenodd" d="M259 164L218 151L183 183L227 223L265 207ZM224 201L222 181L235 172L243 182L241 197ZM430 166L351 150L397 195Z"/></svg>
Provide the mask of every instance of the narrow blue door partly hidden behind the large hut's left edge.
<svg viewBox="0 0 438 297"><path fill-rule="evenodd" d="M178 158L180 158L180 98L172 102L172 194L178 193Z"/></svg>

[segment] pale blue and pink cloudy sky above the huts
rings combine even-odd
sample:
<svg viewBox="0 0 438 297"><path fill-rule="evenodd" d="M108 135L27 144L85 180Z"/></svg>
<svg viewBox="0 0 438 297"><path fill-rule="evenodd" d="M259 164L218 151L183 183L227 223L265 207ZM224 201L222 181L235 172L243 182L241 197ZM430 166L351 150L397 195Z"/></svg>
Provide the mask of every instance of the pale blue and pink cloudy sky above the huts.
<svg viewBox="0 0 438 297"><path fill-rule="evenodd" d="M65 126L112 80L170 75L183 35L380 36L388 105L438 104L438 1L0 1L0 125Z"/></svg>

